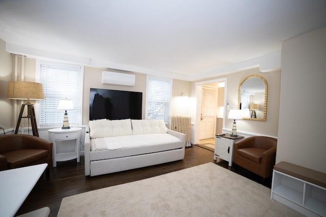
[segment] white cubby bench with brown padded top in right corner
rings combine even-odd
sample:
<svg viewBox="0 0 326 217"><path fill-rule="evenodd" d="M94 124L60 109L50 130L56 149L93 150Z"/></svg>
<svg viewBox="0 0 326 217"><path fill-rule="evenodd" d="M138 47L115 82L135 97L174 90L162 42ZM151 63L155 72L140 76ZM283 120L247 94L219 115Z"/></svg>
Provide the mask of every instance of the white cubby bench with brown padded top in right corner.
<svg viewBox="0 0 326 217"><path fill-rule="evenodd" d="M274 166L270 198L307 216L326 216L326 174L280 162Z"/></svg>

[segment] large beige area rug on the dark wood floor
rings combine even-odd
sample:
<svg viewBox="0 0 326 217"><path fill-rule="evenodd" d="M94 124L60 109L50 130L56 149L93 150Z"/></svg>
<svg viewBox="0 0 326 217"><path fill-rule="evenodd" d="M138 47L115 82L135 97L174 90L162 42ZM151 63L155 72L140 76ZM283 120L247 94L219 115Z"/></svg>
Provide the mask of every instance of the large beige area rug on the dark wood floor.
<svg viewBox="0 0 326 217"><path fill-rule="evenodd" d="M58 216L304 216L213 163L63 198Z"/></svg>

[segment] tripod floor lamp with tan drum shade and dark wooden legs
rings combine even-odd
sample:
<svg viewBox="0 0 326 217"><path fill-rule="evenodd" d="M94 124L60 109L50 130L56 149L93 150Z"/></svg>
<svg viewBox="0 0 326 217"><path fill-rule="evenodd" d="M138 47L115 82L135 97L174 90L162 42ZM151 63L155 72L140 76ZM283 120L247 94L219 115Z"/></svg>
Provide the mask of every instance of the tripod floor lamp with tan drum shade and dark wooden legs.
<svg viewBox="0 0 326 217"><path fill-rule="evenodd" d="M30 100L43 100L43 85L41 83L29 82L29 81L9 81L7 98L13 100L27 100L20 108L20 113L16 125L15 134L18 133L21 118L31 119L33 136L39 136L39 132L36 124L34 104ZM22 116L24 108L27 106L27 115Z"/></svg>

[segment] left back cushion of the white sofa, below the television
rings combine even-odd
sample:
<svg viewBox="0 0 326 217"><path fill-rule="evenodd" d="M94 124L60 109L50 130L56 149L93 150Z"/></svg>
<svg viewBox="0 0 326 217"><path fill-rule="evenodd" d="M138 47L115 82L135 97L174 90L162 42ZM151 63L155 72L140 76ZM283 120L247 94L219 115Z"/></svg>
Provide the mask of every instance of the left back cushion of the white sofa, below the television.
<svg viewBox="0 0 326 217"><path fill-rule="evenodd" d="M90 137L104 138L112 136L132 135L130 119L122 120L90 120Z"/></svg>

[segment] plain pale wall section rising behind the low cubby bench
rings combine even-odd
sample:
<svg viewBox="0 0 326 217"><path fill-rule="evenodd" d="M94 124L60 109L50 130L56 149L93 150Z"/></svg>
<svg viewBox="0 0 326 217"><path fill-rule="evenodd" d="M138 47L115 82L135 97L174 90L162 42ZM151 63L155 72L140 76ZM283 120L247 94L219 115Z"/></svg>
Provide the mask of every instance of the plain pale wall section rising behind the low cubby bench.
<svg viewBox="0 0 326 217"><path fill-rule="evenodd" d="M276 163L326 173L326 28L282 44Z"/></svg>

